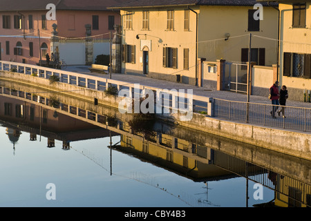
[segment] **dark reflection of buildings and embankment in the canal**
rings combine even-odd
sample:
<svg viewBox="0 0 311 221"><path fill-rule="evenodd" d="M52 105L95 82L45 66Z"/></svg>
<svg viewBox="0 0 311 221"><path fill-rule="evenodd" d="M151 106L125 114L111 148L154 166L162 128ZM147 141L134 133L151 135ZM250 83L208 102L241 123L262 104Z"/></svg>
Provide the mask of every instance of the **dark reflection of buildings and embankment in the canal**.
<svg viewBox="0 0 311 221"><path fill-rule="evenodd" d="M208 182L245 177L247 183L251 180L275 193L269 203L253 206L311 205L309 161L199 131L173 128L162 122L154 124L154 131L134 130L129 124L131 117L118 117L112 108L97 106L95 110L94 105L88 102L68 99L71 103L66 103L61 98L55 108L46 105L47 97L34 97L21 91L14 94L10 88L0 89L4 95L0 95L0 106L4 107L0 109L0 119L3 126L10 125L7 134L13 148L20 130L30 133L31 141L36 141L37 136L47 137L49 148L55 147L55 140L59 140L64 150L70 149L73 141L120 135L120 144L113 146L116 151L133 155L194 182L204 182L207 197L202 201L205 203L212 204L208 200ZM288 167L288 164L293 166ZM248 198L247 195L246 206Z"/></svg>

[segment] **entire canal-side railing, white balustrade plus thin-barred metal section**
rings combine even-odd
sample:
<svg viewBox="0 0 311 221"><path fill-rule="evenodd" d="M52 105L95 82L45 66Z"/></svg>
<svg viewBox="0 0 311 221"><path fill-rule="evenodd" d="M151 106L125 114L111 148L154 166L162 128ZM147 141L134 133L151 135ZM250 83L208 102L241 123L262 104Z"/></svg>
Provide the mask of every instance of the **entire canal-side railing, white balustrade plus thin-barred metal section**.
<svg viewBox="0 0 311 221"><path fill-rule="evenodd" d="M189 111L227 119L234 122L247 122L249 124L257 124L262 126L271 126L276 128L288 128L297 131L311 131L311 108L299 108L285 106L286 118L276 113L276 119L272 118L270 112L273 106L271 104L258 104L247 102L233 102L224 99L204 97L193 95L188 100L187 92L176 93L176 90L164 90L152 86L142 86L135 88L135 84L125 81L117 81L114 79L106 79L92 75L79 74L53 68L45 68L41 66L33 66L30 64L21 64L10 61L0 61L0 70L9 71L16 68L19 74L32 75L36 73L37 77L48 79L51 75L57 75L62 84L71 84L88 88L88 90L106 90L109 86L116 86L120 91L122 89L129 90L131 97L135 98L135 93L141 93L144 89L153 90L158 104L162 106L162 110L173 110L187 108ZM136 91L137 90L137 91ZM214 100L214 102L212 102ZM277 107L278 110L282 106ZM164 113L161 112L161 113Z"/></svg>

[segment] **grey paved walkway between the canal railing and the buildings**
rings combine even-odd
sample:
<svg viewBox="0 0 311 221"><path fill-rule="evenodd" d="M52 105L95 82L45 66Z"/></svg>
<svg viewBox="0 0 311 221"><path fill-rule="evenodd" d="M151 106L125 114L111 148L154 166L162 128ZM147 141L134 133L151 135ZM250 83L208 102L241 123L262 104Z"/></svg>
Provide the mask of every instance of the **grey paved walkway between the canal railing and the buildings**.
<svg viewBox="0 0 311 221"><path fill-rule="evenodd" d="M67 71L82 73L86 75L94 75L97 77L109 78L109 75L103 75L98 73L91 73L88 70L89 66L68 66ZM206 97L214 97L219 99L227 99L231 101L238 102L247 102L247 95L243 93L234 93L231 91L225 90L211 90L209 88L199 88L197 86L191 86L189 84L180 84L171 81L164 81L161 79L154 79L150 77L146 77L144 75L124 75L124 74L112 74L111 79L126 81L129 83L139 83L143 86L153 86L156 88L162 89L192 89L194 91L194 95L206 96ZM288 92L290 95L290 91ZM267 93L268 95L268 93ZM271 104L271 101L267 99L267 97L251 95L249 96L249 102L252 103L261 103L261 104ZM297 102L288 99L286 106L297 106L297 107L306 107L311 108L311 103L306 102Z"/></svg>

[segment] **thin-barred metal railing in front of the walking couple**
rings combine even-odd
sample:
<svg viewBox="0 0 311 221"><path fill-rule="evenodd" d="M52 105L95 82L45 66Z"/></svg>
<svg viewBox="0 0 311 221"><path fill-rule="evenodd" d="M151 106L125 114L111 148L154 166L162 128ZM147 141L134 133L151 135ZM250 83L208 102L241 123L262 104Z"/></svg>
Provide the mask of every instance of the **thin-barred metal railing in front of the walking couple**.
<svg viewBox="0 0 311 221"><path fill-rule="evenodd" d="M274 109L276 110L275 117L272 116ZM283 117L283 112L280 115L278 113L282 109L284 109L285 117ZM311 108L233 102L214 98L214 117L275 128L311 131Z"/></svg>

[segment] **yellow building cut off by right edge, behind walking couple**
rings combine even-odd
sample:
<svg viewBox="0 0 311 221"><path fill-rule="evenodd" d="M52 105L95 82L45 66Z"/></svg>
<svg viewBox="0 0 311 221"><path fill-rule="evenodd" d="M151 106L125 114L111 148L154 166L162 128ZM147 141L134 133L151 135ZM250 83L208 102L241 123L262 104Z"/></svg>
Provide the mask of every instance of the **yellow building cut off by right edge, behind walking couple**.
<svg viewBox="0 0 311 221"><path fill-rule="evenodd" d="M308 102L308 90L311 90L311 1L277 2L280 11L279 81L288 87L291 99Z"/></svg>

